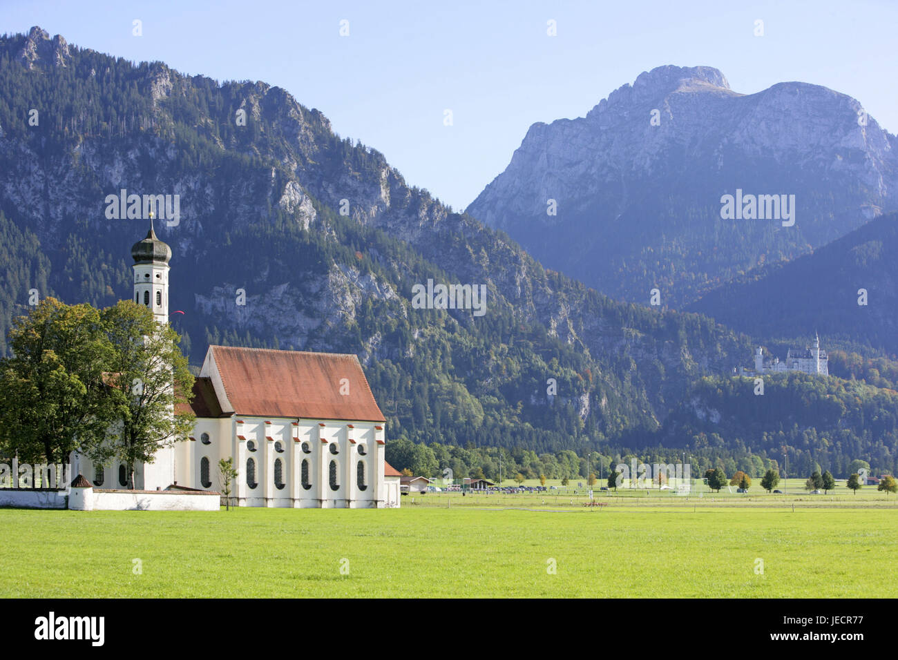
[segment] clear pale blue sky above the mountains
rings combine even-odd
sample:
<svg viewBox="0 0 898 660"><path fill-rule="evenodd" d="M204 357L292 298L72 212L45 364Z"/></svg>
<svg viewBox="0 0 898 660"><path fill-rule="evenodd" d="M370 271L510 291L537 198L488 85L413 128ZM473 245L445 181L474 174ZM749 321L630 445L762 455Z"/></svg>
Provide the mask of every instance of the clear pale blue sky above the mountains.
<svg viewBox="0 0 898 660"><path fill-rule="evenodd" d="M3 32L40 25L118 57L283 87L456 210L505 169L533 122L582 117L666 64L716 66L744 93L782 81L823 84L898 130L894 2L0 4ZM141 37L132 35L134 19ZM348 37L339 36L343 19ZM556 37L546 33L550 19ZM753 35L756 19L763 37Z"/></svg>

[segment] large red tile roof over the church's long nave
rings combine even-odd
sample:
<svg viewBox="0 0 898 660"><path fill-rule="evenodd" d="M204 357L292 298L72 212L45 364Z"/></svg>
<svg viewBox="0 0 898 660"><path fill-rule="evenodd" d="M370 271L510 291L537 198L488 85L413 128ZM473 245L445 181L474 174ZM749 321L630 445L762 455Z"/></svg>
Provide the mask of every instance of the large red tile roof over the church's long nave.
<svg viewBox="0 0 898 660"><path fill-rule="evenodd" d="M226 346L209 350L239 415L386 421L357 356ZM344 378L351 395L340 394Z"/></svg>

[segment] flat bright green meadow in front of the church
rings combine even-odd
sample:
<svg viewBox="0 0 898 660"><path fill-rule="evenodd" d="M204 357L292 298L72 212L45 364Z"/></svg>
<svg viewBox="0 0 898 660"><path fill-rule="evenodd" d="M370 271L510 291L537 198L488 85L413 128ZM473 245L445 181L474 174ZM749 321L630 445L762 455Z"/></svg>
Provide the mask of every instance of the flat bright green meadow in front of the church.
<svg viewBox="0 0 898 660"><path fill-rule="evenodd" d="M428 495L381 510L4 509L0 597L894 597L898 511L873 495L851 508Z"/></svg>

